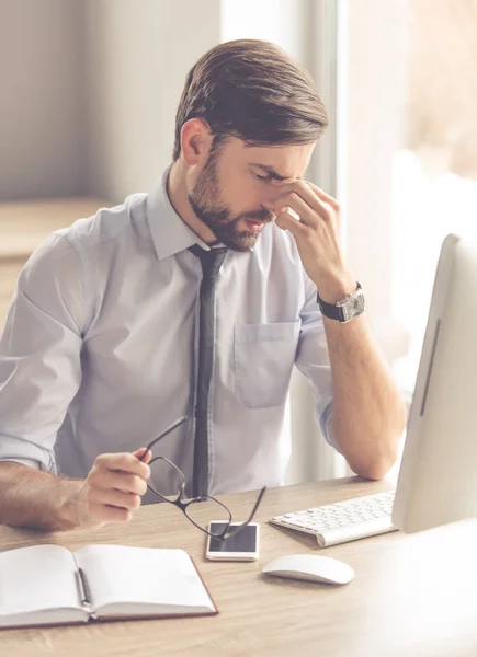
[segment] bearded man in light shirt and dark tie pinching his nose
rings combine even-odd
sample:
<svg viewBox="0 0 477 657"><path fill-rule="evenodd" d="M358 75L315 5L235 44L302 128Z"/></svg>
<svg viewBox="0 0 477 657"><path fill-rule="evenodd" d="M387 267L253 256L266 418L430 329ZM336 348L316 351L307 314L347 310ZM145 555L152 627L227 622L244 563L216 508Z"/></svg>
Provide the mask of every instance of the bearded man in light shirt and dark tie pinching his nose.
<svg viewBox="0 0 477 657"><path fill-rule="evenodd" d="M150 476L140 446L181 416L155 456L184 473L188 495L198 475L211 494L281 484L294 364L351 468L390 468L402 403L339 246L339 205L303 180L326 125L284 51L219 45L188 76L157 187L35 251L0 345L0 522L129 520ZM203 292L203 252L224 246ZM174 492L170 474L152 476Z"/></svg>

